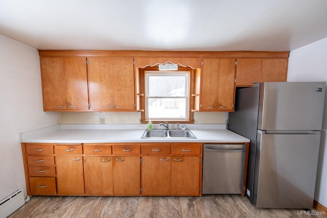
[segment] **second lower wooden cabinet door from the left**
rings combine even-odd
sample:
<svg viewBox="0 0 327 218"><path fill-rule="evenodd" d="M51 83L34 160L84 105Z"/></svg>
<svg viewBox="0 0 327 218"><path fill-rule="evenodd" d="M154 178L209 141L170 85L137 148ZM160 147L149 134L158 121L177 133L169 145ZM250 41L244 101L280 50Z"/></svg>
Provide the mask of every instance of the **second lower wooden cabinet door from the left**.
<svg viewBox="0 0 327 218"><path fill-rule="evenodd" d="M84 162L86 194L112 195L112 157L85 157Z"/></svg>

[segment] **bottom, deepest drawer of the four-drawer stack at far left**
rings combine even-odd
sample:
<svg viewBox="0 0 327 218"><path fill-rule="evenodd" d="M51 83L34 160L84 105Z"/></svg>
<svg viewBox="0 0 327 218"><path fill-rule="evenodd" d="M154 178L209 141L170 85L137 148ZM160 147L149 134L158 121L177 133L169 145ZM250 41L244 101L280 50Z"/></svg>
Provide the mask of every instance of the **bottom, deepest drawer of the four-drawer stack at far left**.
<svg viewBox="0 0 327 218"><path fill-rule="evenodd" d="M56 179L53 177L30 177L31 195L55 195Z"/></svg>

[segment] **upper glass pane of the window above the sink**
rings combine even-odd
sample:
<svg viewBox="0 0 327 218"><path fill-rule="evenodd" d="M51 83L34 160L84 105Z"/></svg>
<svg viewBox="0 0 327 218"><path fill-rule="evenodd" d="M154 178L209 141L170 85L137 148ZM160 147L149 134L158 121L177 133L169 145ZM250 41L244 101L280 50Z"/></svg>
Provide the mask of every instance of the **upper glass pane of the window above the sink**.
<svg viewBox="0 0 327 218"><path fill-rule="evenodd" d="M148 96L188 96L188 75L152 75L148 76Z"/></svg>

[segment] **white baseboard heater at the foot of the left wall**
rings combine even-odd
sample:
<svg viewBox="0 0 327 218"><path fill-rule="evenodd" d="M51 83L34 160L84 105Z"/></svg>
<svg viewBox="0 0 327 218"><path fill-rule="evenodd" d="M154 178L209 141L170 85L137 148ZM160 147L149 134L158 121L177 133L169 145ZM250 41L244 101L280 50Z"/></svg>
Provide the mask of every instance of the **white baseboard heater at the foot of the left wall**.
<svg viewBox="0 0 327 218"><path fill-rule="evenodd" d="M15 191L0 201L0 218L6 218L24 204L25 199L22 189Z"/></svg>

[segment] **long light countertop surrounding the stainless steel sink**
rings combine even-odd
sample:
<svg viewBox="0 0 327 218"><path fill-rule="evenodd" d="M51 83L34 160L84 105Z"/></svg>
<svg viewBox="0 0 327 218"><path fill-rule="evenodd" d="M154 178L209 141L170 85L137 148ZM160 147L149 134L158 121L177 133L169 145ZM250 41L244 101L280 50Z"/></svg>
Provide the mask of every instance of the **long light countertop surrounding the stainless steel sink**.
<svg viewBox="0 0 327 218"><path fill-rule="evenodd" d="M26 143L120 143L120 142L249 142L225 129L225 125L185 125L195 139L142 139L147 125L56 125L20 133Z"/></svg>

